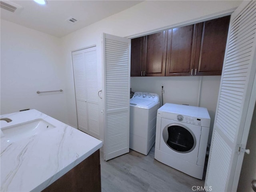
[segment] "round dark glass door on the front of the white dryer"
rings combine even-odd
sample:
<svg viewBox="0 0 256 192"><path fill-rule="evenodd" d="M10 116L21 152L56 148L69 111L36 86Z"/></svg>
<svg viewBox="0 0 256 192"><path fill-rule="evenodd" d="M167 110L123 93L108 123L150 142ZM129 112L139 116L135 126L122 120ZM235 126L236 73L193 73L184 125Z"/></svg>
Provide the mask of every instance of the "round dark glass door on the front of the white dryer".
<svg viewBox="0 0 256 192"><path fill-rule="evenodd" d="M178 153L189 153L196 147L194 133L182 124L168 124L163 129L162 137L166 145Z"/></svg>

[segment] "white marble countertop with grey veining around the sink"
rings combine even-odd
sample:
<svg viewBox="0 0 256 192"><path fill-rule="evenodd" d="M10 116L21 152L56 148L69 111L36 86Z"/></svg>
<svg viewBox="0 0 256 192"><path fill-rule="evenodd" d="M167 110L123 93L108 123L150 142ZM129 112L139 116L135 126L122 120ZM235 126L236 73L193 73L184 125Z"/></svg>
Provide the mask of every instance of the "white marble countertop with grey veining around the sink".
<svg viewBox="0 0 256 192"><path fill-rule="evenodd" d="M5 192L41 191L96 150L102 141L37 110L1 115L1 187ZM55 128L16 141L8 141L2 129L35 119Z"/></svg>

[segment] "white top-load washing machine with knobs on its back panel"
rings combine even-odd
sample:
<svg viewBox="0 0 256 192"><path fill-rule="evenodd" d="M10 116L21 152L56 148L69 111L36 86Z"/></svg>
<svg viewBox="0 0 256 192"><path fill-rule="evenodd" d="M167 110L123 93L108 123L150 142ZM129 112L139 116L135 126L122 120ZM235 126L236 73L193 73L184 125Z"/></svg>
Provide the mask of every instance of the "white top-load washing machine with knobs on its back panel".
<svg viewBox="0 0 256 192"><path fill-rule="evenodd" d="M155 143L159 96L135 92L130 99L130 149L147 155Z"/></svg>

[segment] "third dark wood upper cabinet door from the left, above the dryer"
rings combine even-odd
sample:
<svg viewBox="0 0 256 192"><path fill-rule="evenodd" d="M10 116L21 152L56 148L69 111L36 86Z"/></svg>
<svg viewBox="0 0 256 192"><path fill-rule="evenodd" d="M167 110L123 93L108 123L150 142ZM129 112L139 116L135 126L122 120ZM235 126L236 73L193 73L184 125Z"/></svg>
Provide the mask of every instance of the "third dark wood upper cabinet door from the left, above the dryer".
<svg viewBox="0 0 256 192"><path fill-rule="evenodd" d="M198 24L168 30L165 76L189 76L194 68Z"/></svg>

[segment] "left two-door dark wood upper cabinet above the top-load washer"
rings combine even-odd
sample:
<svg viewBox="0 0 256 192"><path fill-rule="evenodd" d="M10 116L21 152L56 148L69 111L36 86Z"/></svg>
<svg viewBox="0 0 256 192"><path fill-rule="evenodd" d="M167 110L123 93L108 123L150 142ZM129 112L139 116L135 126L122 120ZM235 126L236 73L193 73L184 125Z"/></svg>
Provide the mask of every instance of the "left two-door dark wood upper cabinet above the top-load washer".
<svg viewBox="0 0 256 192"><path fill-rule="evenodd" d="M132 39L131 76L164 76L167 31Z"/></svg>

